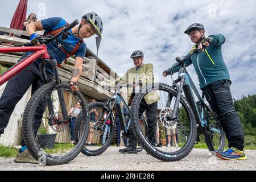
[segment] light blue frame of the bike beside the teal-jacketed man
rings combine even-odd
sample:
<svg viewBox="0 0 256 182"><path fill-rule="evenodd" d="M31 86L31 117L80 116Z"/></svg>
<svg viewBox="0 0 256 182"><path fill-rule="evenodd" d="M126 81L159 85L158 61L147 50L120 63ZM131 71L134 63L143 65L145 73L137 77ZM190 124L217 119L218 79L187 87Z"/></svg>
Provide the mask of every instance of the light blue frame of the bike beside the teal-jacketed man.
<svg viewBox="0 0 256 182"><path fill-rule="evenodd" d="M203 107L203 105L206 106L206 104L204 102L204 94L203 94L203 97L200 96L199 92L196 89L196 86L195 86L194 82L192 81L192 78L189 76L188 72L185 70L185 67L180 68L177 80L180 81L180 86L176 85L177 90L178 90L178 96L179 96L179 93L181 95L181 90L183 90L185 98L188 100L189 104L192 107L192 110L195 113L197 124L200 127L208 128L210 131L220 133L221 132L220 130L214 129L213 127L209 127L208 122L204 120L204 107ZM179 90L180 90L180 92L179 92ZM197 105L193 93L195 93L196 97L198 98L198 100L200 102L200 106ZM175 105L177 105L177 104L179 104L179 103L176 100ZM175 106L174 106L174 115L175 115L175 113L177 113L177 106L176 106L176 109L175 109Z"/></svg>

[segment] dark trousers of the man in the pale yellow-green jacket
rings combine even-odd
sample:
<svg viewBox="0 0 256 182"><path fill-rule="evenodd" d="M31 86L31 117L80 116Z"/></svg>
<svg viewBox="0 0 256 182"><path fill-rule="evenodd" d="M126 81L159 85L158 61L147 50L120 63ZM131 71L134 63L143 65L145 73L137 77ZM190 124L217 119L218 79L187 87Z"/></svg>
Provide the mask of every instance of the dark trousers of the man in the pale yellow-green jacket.
<svg viewBox="0 0 256 182"><path fill-rule="evenodd" d="M139 105L139 113L138 117L141 118L143 112L146 110L146 117L147 117L147 137L150 143L156 143L156 114L158 109L158 102L148 105L146 101L142 100L141 104ZM136 148L137 146L137 139L131 129L129 129L129 146Z"/></svg>

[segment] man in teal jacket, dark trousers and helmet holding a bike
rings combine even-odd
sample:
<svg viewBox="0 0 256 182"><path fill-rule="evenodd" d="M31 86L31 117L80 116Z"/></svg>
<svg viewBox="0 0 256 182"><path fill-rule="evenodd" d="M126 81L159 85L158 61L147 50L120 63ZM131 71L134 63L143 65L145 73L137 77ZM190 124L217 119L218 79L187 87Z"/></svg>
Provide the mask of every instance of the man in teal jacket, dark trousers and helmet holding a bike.
<svg viewBox="0 0 256 182"><path fill-rule="evenodd" d="M229 150L218 154L218 157L226 160L246 159L241 120L234 109L230 76L222 57L221 46L225 43L225 37L220 34L205 37L205 28L200 23L191 24L184 33L196 44L193 49L201 49L200 53L185 62L185 66L193 64L195 67L200 89L212 110L217 113L229 142ZM163 72L163 76L178 72L179 68L173 70L171 67Z"/></svg>

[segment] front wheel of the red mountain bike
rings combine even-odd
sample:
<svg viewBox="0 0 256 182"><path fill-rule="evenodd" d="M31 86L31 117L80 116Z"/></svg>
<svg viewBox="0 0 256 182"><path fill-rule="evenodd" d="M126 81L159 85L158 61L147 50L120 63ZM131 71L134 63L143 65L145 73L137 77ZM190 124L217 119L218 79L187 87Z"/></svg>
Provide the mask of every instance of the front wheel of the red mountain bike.
<svg viewBox="0 0 256 182"><path fill-rule="evenodd" d="M58 87L64 89L67 109L79 102L80 113L88 115L82 93L72 92L69 84ZM28 101L22 123L24 142L39 163L49 166L65 164L73 160L84 146L88 135L88 117L84 117L82 123L80 139L72 144L69 130L71 123L63 120L56 84L50 82L38 89Z"/></svg>

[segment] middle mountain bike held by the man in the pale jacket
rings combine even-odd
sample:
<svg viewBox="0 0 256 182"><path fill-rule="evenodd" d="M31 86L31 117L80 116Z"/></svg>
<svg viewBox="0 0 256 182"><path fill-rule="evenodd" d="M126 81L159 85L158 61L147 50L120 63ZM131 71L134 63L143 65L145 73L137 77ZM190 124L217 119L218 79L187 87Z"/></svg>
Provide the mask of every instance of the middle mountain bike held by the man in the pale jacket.
<svg viewBox="0 0 256 182"><path fill-rule="evenodd" d="M115 113L118 115L118 119L121 125L121 132L123 137L128 137L129 128L131 127L130 121L130 109L127 106L125 100L121 96L121 88L124 85L118 85L116 92L113 97L110 98L106 104L102 102L92 102L88 104L88 110L97 110L98 117L95 122L90 122L91 125L89 130L93 132L92 144L85 144L82 149L82 154L87 156L97 156L102 154L112 143L114 136L114 126L115 126ZM121 103L126 108L127 113L123 112ZM80 126L82 126L81 121L84 121L84 115L79 114L76 121L75 133L77 134L77 139L79 140L80 136ZM109 122L109 124L108 124ZM139 125L143 128L144 131L147 131L147 119L142 116L139 119ZM89 141L89 138L88 138ZM137 151L142 151L143 148L138 144Z"/></svg>

